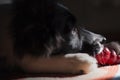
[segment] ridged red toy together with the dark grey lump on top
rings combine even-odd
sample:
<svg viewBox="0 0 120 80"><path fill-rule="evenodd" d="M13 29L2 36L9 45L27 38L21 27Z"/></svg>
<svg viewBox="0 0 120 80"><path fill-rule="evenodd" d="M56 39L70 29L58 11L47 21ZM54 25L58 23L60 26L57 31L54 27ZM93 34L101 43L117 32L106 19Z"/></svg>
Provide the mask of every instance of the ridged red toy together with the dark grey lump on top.
<svg viewBox="0 0 120 80"><path fill-rule="evenodd" d="M104 49L101 53L95 55L98 64L114 65L120 63L120 45L117 42L111 42L104 45Z"/></svg>

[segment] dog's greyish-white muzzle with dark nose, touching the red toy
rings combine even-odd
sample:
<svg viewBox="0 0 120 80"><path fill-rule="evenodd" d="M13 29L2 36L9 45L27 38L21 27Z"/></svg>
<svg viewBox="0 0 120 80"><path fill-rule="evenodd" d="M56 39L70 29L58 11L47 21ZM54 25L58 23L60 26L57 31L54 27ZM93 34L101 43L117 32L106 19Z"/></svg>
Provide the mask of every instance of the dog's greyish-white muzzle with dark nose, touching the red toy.
<svg viewBox="0 0 120 80"><path fill-rule="evenodd" d="M80 37L82 37L81 52L94 55L103 51L104 43L106 43L106 38L104 36L86 29L80 29L80 33Z"/></svg>

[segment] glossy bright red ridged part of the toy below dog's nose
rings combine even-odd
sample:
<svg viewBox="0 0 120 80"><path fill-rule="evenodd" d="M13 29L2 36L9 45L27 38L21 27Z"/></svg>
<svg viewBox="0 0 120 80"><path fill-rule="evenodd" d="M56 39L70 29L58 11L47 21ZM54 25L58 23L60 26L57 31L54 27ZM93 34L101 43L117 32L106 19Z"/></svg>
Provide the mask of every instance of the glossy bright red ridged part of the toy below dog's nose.
<svg viewBox="0 0 120 80"><path fill-rule="evenodd" d="M120 63L120 55L117 55L114 50L109 50L107 47L95 55L99 65L113 65Z"/></svg>

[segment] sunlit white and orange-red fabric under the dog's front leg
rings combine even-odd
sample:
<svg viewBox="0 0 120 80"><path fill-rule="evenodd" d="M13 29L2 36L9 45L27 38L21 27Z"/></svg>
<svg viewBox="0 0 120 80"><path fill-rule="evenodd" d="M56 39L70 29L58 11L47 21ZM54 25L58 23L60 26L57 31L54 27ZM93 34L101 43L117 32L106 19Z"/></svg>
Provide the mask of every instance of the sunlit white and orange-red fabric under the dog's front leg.
<svg viewBox="0 0 120 80"><path fill-rule="evenodd" d="M120 80L120 65L100 67L97 70L85 74L74 76L37 76L24 77L16 80Z"/></svg>

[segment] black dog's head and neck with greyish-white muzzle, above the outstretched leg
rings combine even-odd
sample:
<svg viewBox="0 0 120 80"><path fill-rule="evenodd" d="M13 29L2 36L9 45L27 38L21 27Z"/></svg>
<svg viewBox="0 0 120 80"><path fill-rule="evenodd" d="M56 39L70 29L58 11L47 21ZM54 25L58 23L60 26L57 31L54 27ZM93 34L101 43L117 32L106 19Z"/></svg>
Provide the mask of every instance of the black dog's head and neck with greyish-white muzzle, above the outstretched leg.
<svg viewBox="0 0 120 80"><path fill-rule="evenodd" d="M12 29L19 55L100 51L104 37L76 26L75 17L55 0L15 0L14 3Z"/></svg>

